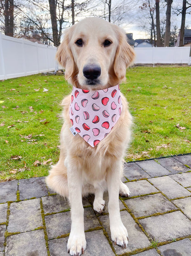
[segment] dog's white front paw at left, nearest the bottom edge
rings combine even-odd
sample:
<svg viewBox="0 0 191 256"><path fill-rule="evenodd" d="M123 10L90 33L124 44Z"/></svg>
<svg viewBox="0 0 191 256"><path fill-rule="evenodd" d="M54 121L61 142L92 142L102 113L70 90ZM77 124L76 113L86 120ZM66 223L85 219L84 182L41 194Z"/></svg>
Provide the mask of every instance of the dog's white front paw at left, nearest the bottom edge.
<svg viewBox="0 0 191 256"><path fill-rule="evenodd" d="M67 241L67 252L73 256L79 256L84 254L86 248L85 234L72 234L70 233L69 239Z"/></svg>

